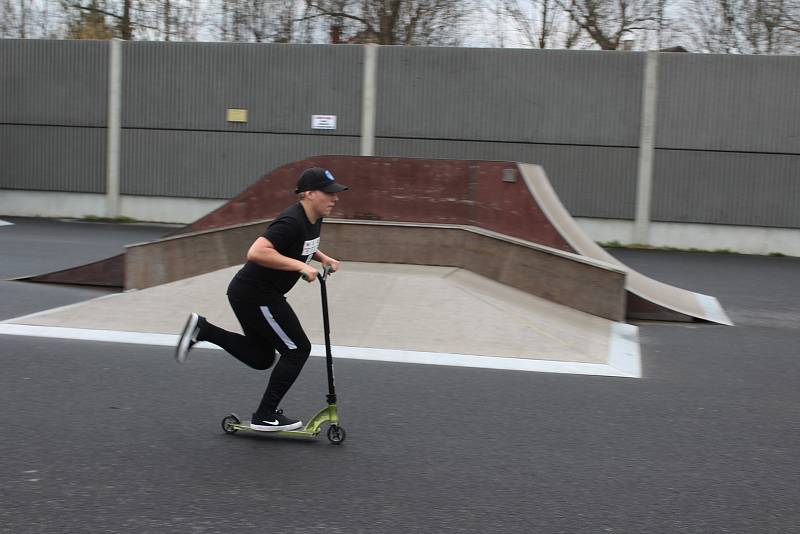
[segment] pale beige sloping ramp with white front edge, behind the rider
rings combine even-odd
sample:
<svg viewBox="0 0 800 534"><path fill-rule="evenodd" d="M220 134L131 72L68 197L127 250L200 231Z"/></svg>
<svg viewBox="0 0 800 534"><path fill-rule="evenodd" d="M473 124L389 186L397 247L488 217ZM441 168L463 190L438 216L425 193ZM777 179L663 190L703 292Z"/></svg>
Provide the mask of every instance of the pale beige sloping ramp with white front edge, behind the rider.
<svg viewBox="0 0 800 534"><path fill-rule="evenodd" d="M464 269L342 265L328 282L335 357L641 375L637 330L630 325L554 304ZM192 311L240 332L225 297L238 268L12 319L0 324L0 333L174 346L175 334ZM315 354L322 355L319 285L298 282L288 300L316 345Z"/></svg>

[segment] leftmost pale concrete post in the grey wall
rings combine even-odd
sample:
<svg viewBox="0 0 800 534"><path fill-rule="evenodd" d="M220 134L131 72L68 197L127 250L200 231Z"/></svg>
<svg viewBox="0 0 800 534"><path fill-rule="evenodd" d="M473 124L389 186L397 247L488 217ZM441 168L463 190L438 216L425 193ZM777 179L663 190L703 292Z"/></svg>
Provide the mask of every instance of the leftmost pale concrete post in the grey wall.
<svg viewBox="0 0 800 534"><path fill-rule="evenodd" d="M119 217L119 158L122 115L122 41L109 43L108 124L106 136L106 217Z"/></svg>

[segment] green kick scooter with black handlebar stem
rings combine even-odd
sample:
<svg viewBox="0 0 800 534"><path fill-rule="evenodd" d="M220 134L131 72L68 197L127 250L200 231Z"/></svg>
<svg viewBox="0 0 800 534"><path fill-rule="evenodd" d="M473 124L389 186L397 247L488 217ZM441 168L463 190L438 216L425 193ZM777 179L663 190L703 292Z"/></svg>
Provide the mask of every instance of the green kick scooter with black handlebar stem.
<svg viewBox="0 0 800 534"><path fill-rule="evenodd" d="M333 380L333 354L331 354L331 327L328 321L328 292L325 288L325 281L331 272L330 266L326 265L323 268L323 273L317 274L320 292L322 293L322 325L325 331L325 361L328 369L328 395L326 397L328 405L318 411L305 427L297 430L278 430L275 432L253 430L250 428L250 421L242 421L235 413L232 413L226 415L222 420L222 430L226 433L235 434L242 430L272 436L312 439L316 438L322 431L322 425L328 423L328 440L336 445L344 441L344 428L339 426L339 414L336 411L336 388Z"/></svg>

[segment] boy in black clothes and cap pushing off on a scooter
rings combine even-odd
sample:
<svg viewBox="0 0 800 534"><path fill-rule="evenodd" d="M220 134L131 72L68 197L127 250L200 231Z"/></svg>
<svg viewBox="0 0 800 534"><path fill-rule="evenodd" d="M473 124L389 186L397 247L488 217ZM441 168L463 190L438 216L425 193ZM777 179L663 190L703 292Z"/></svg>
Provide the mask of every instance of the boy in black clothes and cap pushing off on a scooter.
<svg viewBox="0 0 800 534"><path fill-rule="evenodd" d="M178 363L186 361L198 341L213 343L258 370L272 367L275 353L280 353L253 413L253 430L295 430L303 425L278 409L311 353L311 343L285 295L301 276L308 282L317 278L317 270L309 265L312 259L331 271L339 269L338 260L319 250L320 228L323 217L338 202L338 193L346 189L330 171L307 169L297 181L299 201L278 215L250 246L247 263L228 285L228 301L244 335L215 326L196 313L189 316L181 333L175 349Z"/></svg>

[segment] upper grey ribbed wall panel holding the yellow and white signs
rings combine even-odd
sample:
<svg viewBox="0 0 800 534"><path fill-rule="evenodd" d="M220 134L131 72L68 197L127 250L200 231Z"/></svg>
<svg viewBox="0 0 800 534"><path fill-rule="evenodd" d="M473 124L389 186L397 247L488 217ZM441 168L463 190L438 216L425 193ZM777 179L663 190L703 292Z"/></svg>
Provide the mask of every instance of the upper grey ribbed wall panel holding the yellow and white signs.
<svg viewBox="0 0 800 534"><path fill-rule="evenodd" d="M124 128L358 136L360 46L125 43ZM227 108L248 110L228 123ZM337 115L311 130L311 115Z"/></svg>

